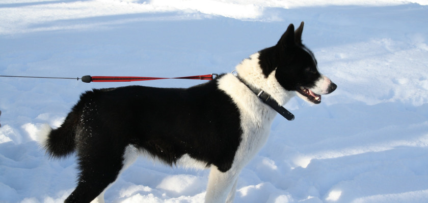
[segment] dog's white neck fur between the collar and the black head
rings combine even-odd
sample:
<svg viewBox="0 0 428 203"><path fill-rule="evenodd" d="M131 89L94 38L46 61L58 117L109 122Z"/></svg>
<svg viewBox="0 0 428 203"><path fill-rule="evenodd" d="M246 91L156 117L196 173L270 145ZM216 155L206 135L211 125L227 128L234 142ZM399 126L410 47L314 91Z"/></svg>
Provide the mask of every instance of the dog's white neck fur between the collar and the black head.
<svg viewBox="0 0 428 203"><path fill-rule="evenodd" d="M276 80L275 71L265 77L259 64L259 53L255 53L250 58L244 59L236 65L236 72L242 80L251 89L263 90L268 93L280 106L295 96L294 92L285 90Z"/></svg>

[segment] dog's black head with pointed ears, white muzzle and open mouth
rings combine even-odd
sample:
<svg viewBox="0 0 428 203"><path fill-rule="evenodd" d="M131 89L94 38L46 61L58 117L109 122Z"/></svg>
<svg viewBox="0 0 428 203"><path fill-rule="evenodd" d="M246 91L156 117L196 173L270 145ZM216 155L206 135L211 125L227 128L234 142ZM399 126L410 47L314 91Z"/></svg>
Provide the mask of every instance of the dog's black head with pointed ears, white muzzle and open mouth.
<svg viewBox="0 0 428 203"><path fill-rule="evenodd" d="M278 44L259 52L259 65L268 78L275 74L278 83L288 91L314 104L321 102L321 94L333 92L337 85L320 74L313 53L302 44L303 22L294 29L290 24Z"/></svg>

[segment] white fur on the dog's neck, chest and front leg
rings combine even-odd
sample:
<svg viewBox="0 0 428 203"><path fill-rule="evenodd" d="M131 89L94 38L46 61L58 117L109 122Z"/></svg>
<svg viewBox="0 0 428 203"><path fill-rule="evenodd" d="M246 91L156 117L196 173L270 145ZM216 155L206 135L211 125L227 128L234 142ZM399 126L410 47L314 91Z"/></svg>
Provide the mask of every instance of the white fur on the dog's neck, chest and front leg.
<svg viewBox="0 0 428 203"><path fill-rule="evenodd" d="M266 91L281 105L285 104L295 94L286 91L277 82L275 71L267 78L264 77L258 64L258 56L258 53L253 54L236 66L239 77L248 84ZM240 171L268 140L270 126L276 116L272 108L263 104L254 92L232 74L227 74L219 80L219 89L231 96L237 105L243 135L230 170L222 173L216 166L211 167L206 203L233 201Z"/></svg>

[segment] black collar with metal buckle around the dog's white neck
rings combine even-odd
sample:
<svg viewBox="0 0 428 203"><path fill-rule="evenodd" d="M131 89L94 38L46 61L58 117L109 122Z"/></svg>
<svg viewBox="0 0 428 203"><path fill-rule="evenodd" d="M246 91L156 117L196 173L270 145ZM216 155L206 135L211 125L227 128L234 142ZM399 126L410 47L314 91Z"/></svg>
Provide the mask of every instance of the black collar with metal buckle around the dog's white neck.
<svg viewBox="0 0 428 203"><path fill-rule="evenodd" d="M294 115L291 112L289 112L288 110L286 110L284 107L280 106L277 103L277 101L271 97L271 95L269 95L268 93L266 93L263 90L260 90L260 89L252 87L251 85L248 85L238 75L236 75L236 78L239 81L241 81L242 83L244 83L248 88L250 88L251 91L253 91L257 95L257 97L263 101L264 104L270 106L272 109L274 109L276 112L278 112L281 116L283 116L287 120L289 120L289 121L294 120Z"/></svg>

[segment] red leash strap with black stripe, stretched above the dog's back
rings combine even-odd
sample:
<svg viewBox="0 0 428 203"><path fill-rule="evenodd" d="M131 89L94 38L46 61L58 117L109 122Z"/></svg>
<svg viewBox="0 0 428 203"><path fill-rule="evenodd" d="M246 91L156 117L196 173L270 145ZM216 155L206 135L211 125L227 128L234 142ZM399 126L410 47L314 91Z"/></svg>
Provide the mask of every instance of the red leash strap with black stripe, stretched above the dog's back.
<svg viewBox="0 0 428 203"><path fill-rule="evenodd" d="M193 79L193 80L212 80L217 77L217 74L187 76L178 78L154 78L154 77L118 77L118 76L83 76L82 81L90 82L132 82L144 80L162 80L162 79Z"/></svg>

